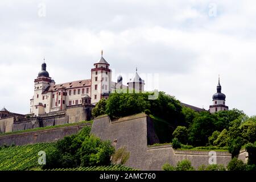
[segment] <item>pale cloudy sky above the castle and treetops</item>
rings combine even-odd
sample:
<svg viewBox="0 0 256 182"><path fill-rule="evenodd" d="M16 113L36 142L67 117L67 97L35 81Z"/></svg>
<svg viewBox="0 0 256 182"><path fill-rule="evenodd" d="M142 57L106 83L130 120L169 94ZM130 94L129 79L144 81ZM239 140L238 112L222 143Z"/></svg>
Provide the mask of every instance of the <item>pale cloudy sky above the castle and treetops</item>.
<svg viewBox="0 0 256 182"><path fill-rule="evenodd" d="M46 57L56 84L90 78L101 49L125 81L209 108L218 74L226 105L256 114L255 1L0 1L0 107L26 114ZM152 80L158 80L152 82ZM1 106L2 105L2 106Z"/></svg>

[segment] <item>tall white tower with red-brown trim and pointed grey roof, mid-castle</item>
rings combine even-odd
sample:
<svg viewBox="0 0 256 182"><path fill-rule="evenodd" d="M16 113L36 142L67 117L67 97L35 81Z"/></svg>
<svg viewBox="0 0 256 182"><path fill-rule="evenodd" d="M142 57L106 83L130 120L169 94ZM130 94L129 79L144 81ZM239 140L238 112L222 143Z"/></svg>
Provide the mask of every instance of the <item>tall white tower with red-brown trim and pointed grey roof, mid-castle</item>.
<svg viewBox="0 0 256 182"><path fill-rule="evenodd" d="M91 102L95 105L101 100L103 94L109 94L111 89L111 69L109 63L103 57L101 51L101 59L94 64L91 69Z"/></svg>

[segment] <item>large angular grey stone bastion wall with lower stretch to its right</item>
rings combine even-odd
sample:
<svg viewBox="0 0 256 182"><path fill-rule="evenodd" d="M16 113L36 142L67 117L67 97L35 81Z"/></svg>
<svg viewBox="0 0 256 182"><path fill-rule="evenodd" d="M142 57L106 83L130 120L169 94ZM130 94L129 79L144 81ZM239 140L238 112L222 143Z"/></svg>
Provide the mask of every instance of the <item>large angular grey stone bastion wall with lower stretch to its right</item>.
<svg viewBox="0 0 256 182"><path fill-rule="evenodd" d="M91 133L103 140L113 142L116 149L126 146L130 152L130 158L126 165L142 170L161 170L164 163L176 165L183 159L189 159L192 166L209 164L209 151L178 151L172 146L148 147L157 141L153 122L145 114L137 114L130 117L111 121L108 116L94 119ZM229 152L216 152L217 164L226 166L231 160Z"/></svg>

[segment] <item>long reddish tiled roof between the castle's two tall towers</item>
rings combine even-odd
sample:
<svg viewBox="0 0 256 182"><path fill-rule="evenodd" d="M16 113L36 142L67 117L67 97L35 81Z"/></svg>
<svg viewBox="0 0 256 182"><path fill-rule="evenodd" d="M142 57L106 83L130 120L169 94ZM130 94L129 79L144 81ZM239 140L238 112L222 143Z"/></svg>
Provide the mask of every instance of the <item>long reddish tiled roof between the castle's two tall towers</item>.
<svg viewBox="0 0 256 182"><path fill-rule="evenodd" d="M48 86L48 88L46 88L46 90L44 90L43 93L47 93L51 91L54 92L54 91L57 91L58 89L73 89L73 88L79 88L79 87L90 86L90 85L91 85L90 79L71 81L71 82L66 82L64 84Z"/></svg>

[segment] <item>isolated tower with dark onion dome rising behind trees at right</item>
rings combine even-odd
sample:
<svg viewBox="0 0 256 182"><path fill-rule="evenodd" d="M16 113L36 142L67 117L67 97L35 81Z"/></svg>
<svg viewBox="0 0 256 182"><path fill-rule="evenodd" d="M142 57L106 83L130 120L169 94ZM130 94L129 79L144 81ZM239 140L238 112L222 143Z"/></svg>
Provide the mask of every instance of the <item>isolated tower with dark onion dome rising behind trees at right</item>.
<svg viewBox="0 0 256 182"><path fill-rule="evenodd" d="M229 107L225 105L226 96L224 93L221 93L220 76L218 77L217 93L213 94L212 101L213 105L210 105L210 113L229 109Z"/></svg>

